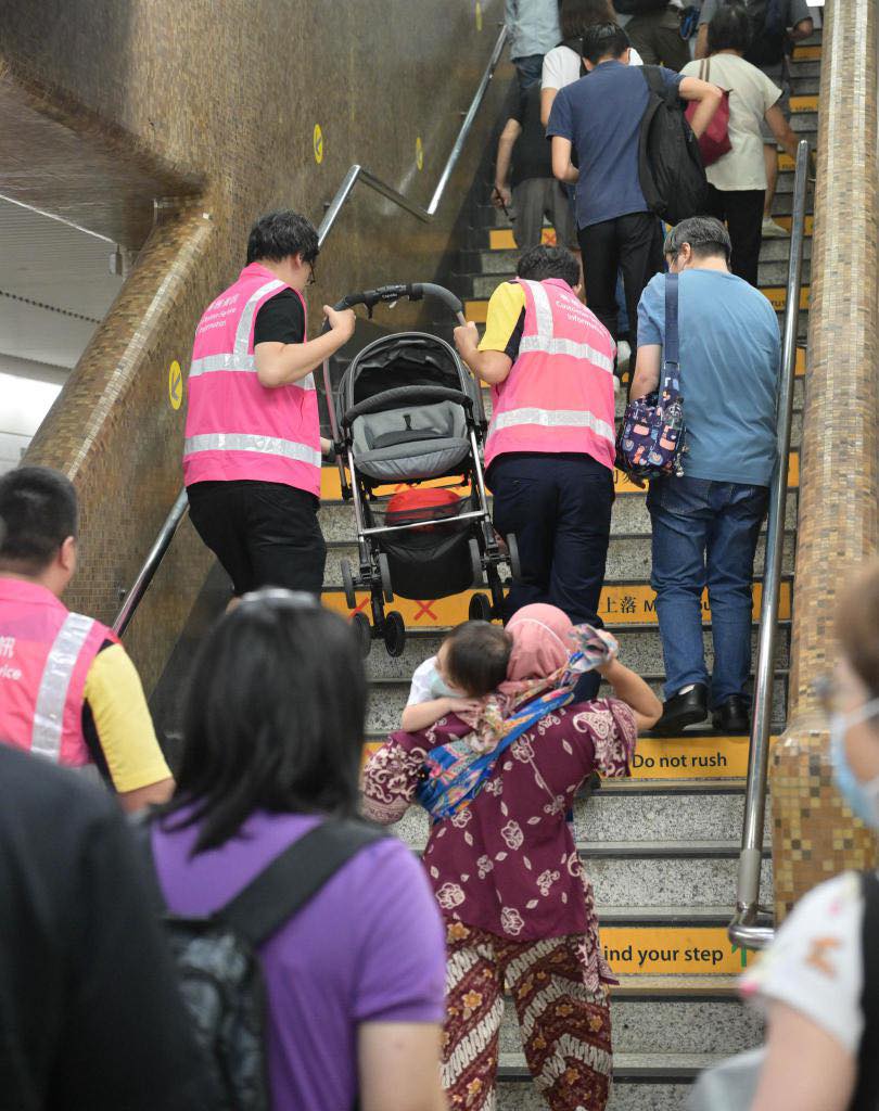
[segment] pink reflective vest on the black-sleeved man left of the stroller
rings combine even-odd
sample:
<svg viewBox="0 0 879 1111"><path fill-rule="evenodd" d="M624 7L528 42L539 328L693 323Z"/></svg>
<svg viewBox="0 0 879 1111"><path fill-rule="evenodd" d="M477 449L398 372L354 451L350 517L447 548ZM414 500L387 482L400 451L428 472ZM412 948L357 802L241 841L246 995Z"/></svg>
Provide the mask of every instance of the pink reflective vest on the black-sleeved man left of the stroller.
<svg viewBox="0 0 879 1111"><path fill-rule="evenodd" d="M250 479L282 482L320 497L320 418L314 378L293 386L260 386L253 361L259 309L287 289L259 262L199 321L189 368L186 484ZM302 311L306 303L301 294Z"/></svg>

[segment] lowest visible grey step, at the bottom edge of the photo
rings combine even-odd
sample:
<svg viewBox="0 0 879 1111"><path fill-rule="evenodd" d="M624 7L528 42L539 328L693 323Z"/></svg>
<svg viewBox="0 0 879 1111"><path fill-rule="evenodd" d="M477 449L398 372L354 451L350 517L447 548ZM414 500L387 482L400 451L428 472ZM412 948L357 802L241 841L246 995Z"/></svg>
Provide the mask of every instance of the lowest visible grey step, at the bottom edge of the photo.
<svg viewBox="0 0 879 1111"><path fill-rule="evenodd" d="M608 1111L685 1111L693 1078L726 1055L615 1054ZM501 1058L498 1081L498 1111L547 1111L520 1054Z"/></svg>

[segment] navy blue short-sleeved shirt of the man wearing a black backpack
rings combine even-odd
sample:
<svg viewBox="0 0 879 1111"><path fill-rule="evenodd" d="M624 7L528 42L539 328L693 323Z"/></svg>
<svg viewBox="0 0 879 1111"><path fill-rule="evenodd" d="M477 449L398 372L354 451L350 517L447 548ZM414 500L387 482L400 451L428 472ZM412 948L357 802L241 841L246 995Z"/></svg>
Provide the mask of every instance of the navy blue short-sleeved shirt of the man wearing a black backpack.
<svg viewBox="0 0 879 1111"><path fill-rule="evenodd" d="M683 80L672 70L660 67L660 72L671 88ZM577 151L578 228L649 211L638 178L638 140L647 100L641 67L617 61L601 62L559 90L547 136L570 139Z"/></svg>

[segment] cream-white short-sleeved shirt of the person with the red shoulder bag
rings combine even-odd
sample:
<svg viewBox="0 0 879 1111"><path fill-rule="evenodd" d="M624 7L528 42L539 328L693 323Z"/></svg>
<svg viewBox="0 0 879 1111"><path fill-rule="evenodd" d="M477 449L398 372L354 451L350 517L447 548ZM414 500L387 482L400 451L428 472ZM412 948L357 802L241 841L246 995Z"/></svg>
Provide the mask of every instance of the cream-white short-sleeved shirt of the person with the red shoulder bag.
<svg viewBox="0 0 879 1111"><path fill-rule="evenodd" d="M729 92L729 138L732 150L707 167L708 181L723 191L766 189L766 162L760 124L781 96L778 86L738 54L712 54L705 80ZM682 77L699 77L702 62L688 62Z"/></svg>

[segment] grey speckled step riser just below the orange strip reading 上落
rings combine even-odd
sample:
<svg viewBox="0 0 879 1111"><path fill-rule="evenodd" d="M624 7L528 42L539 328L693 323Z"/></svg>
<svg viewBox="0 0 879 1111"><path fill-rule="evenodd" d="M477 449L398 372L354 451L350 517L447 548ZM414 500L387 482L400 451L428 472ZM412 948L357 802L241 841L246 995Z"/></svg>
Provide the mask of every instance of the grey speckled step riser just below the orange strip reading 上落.
<svg viewBox="0 0 879 1111"><path fill-rule="evenodd" d="M329 562L327 569L329 571ZM387 652L370 652L367 659L367 671L370 678L376 679L398 679L408 682L412 672L423 660L436 655L447 630L412 630L406 640L406 648L402 655L392 657ZM757 650L758 629L755 625L751 633L752 650ZM639 674L658 674L662 670L662 652L659 643L659 631L656 625L631 627L620 625L615 629L615 635L620 642L620 659ZM706 660L709 668L713 662L713 645L711 643L711 631L706 629L702 633L705 640ZM790 662L790 625L783 624L779 630L778 650L776 663L779 668L787 668Z"/></svg>

